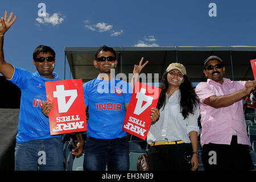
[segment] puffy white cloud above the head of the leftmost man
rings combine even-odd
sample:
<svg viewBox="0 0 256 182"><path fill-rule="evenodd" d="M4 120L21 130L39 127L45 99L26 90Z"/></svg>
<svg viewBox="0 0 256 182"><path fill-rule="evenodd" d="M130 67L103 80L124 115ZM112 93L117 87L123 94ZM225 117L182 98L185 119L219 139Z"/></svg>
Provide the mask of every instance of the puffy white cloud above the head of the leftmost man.
<svg viewBox="0 0 256 182"><path fill-rule="evenodd" d="M60 13L54 13L51 16L46 13L46 16L36 18L36 21L40 24L51 24L52 26L56 26L60 23L63 23L65 16Z"/></svg>

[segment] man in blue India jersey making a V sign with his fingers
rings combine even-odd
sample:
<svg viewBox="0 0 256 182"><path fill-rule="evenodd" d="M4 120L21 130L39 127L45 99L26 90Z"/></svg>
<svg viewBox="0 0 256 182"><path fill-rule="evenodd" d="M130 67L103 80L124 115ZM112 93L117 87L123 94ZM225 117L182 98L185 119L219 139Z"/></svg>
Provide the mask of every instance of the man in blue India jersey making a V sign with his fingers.
<svg viewBox="0 0 256 182"><path fill-rule="evenodd" d="M131 85L118 80L111 71L117 67L113 48L102 46L93 65L99 75L83 85L85 107L89 109L88 131L85 143L84 170L126 171L129 169L129 144L122 130L123 119L130 102L135 81L148 63L134 66ZM137 73L137 74L135 74Z"/></svg>

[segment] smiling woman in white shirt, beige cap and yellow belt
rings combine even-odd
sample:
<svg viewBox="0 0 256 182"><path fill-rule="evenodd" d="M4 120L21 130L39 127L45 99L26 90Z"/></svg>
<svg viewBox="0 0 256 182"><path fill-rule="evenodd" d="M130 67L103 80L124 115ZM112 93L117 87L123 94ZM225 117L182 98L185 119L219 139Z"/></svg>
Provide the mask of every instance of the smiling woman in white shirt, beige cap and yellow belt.
<svg viewBox="0 0 256 182"><path fill-rule="evenodd" d="M152 123L147 134L150 170L195 171L199 167L199 100L184 65L170 64L160 88L158 109L151 110Z"/></svg>

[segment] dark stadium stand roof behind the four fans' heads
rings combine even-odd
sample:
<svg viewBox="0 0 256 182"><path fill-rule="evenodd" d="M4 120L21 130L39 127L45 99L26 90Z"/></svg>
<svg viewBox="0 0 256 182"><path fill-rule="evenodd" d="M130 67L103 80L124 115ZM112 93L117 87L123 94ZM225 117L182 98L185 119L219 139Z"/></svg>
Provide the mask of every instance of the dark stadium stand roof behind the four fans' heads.
<svg viewBox="0 0 256 182"><path fill-rule="evenodd" d="M192 82L205 81L204 60L210 55L221 57L226 67L225 77L231 80L254 80L250 60L256 59L256 46L179 46L179 47L113 47L117 52L118 67L115 73L133 72L134 64L141 57L149 63L143 73L159 73L159 78L170 63L185 65L187 75ZM65 58L74 79L87 82L97 77L98 70L93 66L94 55L98 47L65 47ZM66 63L66 61L65 61ZM65 65L66 67L66 65ZM148 82L148 81L147 81Z"/></svg>

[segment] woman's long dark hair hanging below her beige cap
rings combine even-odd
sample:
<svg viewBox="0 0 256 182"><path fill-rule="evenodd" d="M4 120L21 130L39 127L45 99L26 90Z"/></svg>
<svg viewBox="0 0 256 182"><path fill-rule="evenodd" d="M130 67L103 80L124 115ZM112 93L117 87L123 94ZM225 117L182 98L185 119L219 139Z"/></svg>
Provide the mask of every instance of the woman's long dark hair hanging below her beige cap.
<svg viewBox="0 0 256 182"><path fill-rule="evenodd" d="M168 90L167 74L168 72L164 73L160 82L160 89L162 90L160 92L158 105L156 106L159 110L166 105L166 93ZM187 75L183 76L183 80L183 83L180 85L180 112L185 119L188 117L189 113L194 114L194 110L199 104L199 98L191 82L188 80Z"/></svg>

